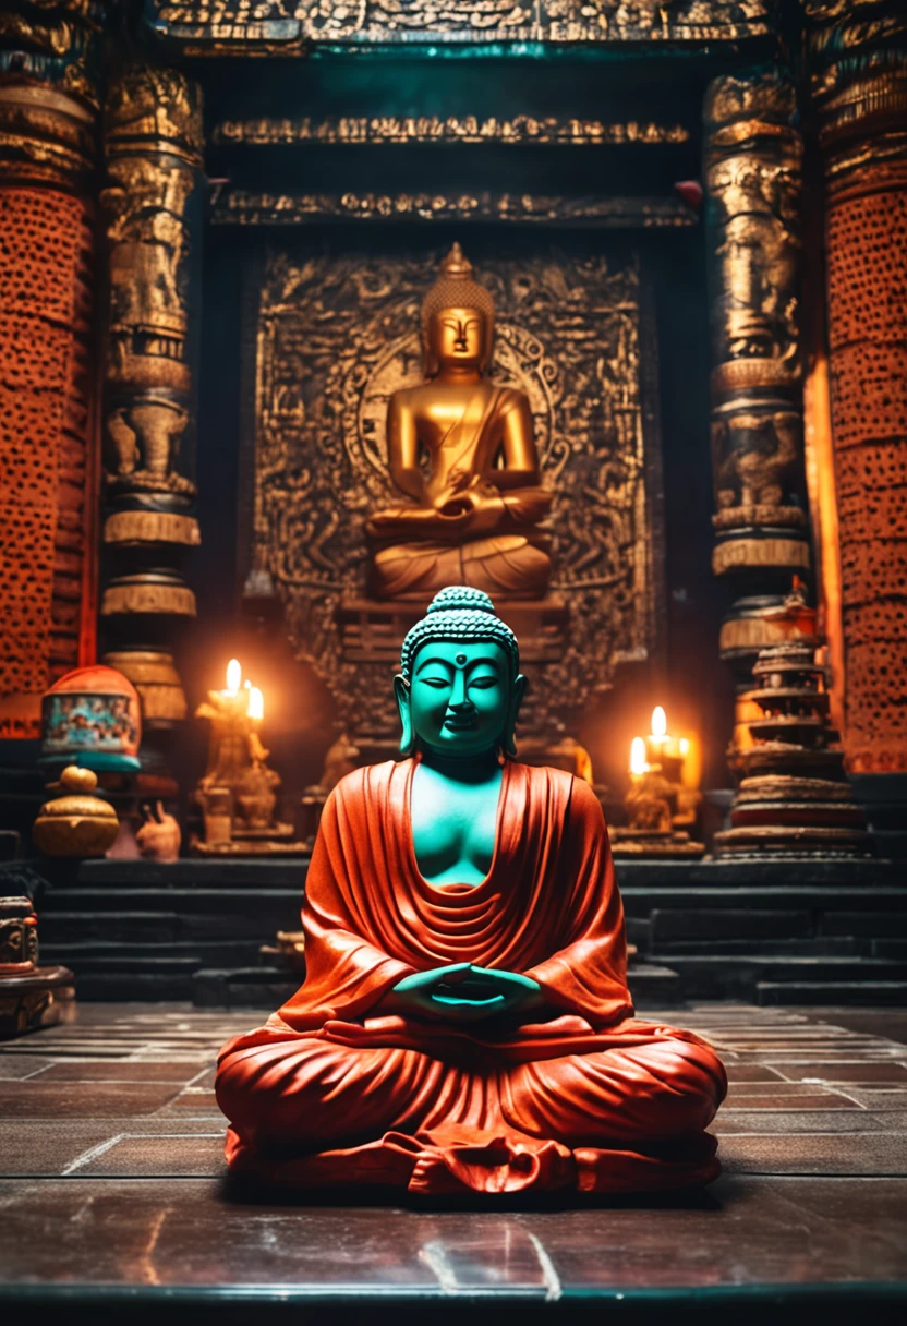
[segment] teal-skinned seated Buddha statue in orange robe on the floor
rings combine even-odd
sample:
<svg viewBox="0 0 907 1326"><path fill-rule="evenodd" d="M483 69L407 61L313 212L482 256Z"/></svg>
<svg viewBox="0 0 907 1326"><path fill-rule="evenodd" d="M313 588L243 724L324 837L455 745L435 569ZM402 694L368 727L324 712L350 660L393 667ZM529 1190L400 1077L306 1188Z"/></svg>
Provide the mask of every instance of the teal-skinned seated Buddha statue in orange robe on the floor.
<svg viewBox="0 0 907 1326"><path fill-rule="evenodd" d="M514 758L524 687L479 590L443 590L406 636L402 758L324 809L305 981L219 1057L233 1175L614 1193L719 1174L721 1062L634 1017L602 810Z"/></svg>

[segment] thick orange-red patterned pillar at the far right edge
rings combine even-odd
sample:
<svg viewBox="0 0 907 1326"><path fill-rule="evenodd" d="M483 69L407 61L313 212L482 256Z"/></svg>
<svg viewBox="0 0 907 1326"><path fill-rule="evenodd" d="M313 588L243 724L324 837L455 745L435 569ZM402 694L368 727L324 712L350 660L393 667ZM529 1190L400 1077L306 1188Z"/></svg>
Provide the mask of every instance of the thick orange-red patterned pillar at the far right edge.
<svg viewBox="0 0 907 1326"><path fill-rule="evenodd" d="M907 13L805 8L826 195L843 743L853 774L906 774ZM903 788L896 800L903 823Z"/></svg>

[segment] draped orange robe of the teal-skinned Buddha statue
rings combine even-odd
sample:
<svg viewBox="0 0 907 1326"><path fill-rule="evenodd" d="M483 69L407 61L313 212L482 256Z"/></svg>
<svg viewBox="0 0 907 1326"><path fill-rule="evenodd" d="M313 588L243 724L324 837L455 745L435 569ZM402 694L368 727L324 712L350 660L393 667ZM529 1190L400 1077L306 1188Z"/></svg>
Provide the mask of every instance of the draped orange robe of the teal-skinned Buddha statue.
<svg viewBox="0 0 907 1326"><path fill-rule="evenodd" d="M357 769L325 805L302 908L306 979L220 1053L233 1174L411 1192L708 1183L727 1091L690 1032L633 1017L602 810L560 769L507 762L477 886L430 884L412 845L414 760ZM532 976L550 1013L467 1026L371 1010L415 971Z"/></svg>

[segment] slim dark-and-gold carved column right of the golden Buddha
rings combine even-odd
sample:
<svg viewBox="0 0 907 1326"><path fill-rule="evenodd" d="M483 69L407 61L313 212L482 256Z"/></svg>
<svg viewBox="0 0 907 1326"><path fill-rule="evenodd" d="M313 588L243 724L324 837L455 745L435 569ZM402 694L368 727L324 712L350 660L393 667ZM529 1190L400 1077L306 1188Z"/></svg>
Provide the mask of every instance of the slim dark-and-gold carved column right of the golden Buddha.
<svg viewBox="0 0 907 1326"><path fill-rule="evenodd" d="M721 658L747 686L761 648L810 629L784 610L810 568L800 346L802 139L790 78L761 69L705 94L712 346L712 568L733 591ZM747 717L739 705L737 725Z"/></svg>

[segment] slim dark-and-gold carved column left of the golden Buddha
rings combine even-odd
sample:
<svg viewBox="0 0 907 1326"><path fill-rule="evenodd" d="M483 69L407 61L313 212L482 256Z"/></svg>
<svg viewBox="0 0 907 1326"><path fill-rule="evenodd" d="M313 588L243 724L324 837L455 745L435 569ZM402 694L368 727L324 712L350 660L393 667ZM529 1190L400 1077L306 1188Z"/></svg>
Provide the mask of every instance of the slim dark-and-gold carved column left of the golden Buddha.
<svg viewBox="0 0 907 1326"><path fill-rule="evenodd" d="M202 145L198 84L145 64L111 81L102 192L110 316L101 617L105 662L142 697L145 790L163 794L164 782L154 782L166 780L160 736L186 717L172 638L195 615L182 562L199 542L191 469Z"/></svg>

